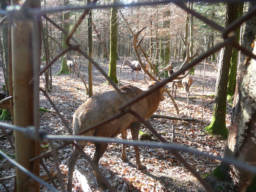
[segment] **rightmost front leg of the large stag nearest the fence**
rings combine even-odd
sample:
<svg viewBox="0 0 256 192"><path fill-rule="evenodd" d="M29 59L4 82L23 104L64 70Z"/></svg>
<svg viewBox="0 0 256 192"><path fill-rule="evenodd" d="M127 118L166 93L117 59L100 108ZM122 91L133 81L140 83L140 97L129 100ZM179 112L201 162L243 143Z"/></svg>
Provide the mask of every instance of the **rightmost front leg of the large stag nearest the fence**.
<svg viewBox="0 0 256 192"><path fill-rule="evenodd" d="M138 140L140 124L141 124L140 122L135 122L131 124L132 139ZM139 147L134 146L134 150L135 150L135 157L136 157L136 163L137 163L138 169L139 170L146 169L146 166L143 166L139 159Z"/></svg>

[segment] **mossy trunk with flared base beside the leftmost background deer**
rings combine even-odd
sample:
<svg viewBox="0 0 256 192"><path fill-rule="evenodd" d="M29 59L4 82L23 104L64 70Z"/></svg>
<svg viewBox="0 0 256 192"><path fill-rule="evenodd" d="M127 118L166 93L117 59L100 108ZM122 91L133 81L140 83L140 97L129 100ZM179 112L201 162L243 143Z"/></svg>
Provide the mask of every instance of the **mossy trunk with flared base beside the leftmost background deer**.
<svg viewBox="0 0 256 192"><path fill-rule="evenodd" d="M63 1L63 5L64 6L68 6L69 4L69 0L64 0ZM63 21L62 21L62 27L65 31L69 32L69 19L70 19L70 11L65 11L63 14ZM67 48L68 46L66 45L66 39L67 39L67 35L66 34L62 34L62 46L64 48ZM64 55L63 55L64 56ZM60 72L58 72L56 75L61 75L61 74L68 74L68 65L67 65L67 60L64 59L62 56L61 58L61 68L60 68Z"/></svg>

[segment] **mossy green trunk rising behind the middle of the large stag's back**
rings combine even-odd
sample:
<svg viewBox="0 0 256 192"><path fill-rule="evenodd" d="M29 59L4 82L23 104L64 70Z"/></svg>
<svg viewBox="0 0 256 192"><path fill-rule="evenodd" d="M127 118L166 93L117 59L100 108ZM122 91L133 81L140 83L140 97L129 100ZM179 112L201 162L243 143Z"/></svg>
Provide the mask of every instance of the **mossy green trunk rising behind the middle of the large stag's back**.
<svg viewBox="0 0 256 192"><path fill-rule="evenodd" d="M118 0L113 0L113 3L118 3ZM117 80L117 8L111 8L110 19L110 51L109 51L109 77L114 83Z"/></svg>

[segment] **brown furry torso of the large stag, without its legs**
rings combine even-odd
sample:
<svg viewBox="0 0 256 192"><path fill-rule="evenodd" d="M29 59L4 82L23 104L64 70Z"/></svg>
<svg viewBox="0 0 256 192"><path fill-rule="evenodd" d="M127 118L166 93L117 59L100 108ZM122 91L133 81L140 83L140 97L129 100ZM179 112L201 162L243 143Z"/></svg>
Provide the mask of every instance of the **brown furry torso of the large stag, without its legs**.
<svg viewBox="0 0 256 192"><path fill-rule="evenodd" d="M152 87L151 83L149 87ZM133 85L120 87L122 93L128 100L135 98L141 94L143 90ZM163 100L163 89L155 91L146 98L136 102L131 106L131 109L138 113L141 117L147 119L157 110L159 102ZM107 91L102 94L94 95L84 102L75 111L73 116L73 132L77 134L87 127L99 121L105 120L119 113L119 107L124 103L117 91ZM117 136L122 130L129 128L130 124L138 121L136 117L127 113L126 115L113 120L107 124L87 132L87 136Z"/></svg>

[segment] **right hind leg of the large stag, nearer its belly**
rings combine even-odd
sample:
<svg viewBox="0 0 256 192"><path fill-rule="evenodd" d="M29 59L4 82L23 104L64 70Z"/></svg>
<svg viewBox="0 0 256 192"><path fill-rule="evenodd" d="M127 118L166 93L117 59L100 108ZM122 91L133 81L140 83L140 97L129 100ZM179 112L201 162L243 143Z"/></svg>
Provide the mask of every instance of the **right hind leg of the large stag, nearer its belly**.
<svg viewBox="0 0 256 192"><path fill-rule="evenodd" d="M92 158L92 161L95 163L95 165L98 167L99 166L99 160L102 157L102 155L105 153L107 147L108 147L108 143L95 143L95 153L94 153L94 157ZM99 175L96 170L93 169L94 175L97 179L97 182L99 185L105 185L105 183L103 182L101 175Z"/></svg>

